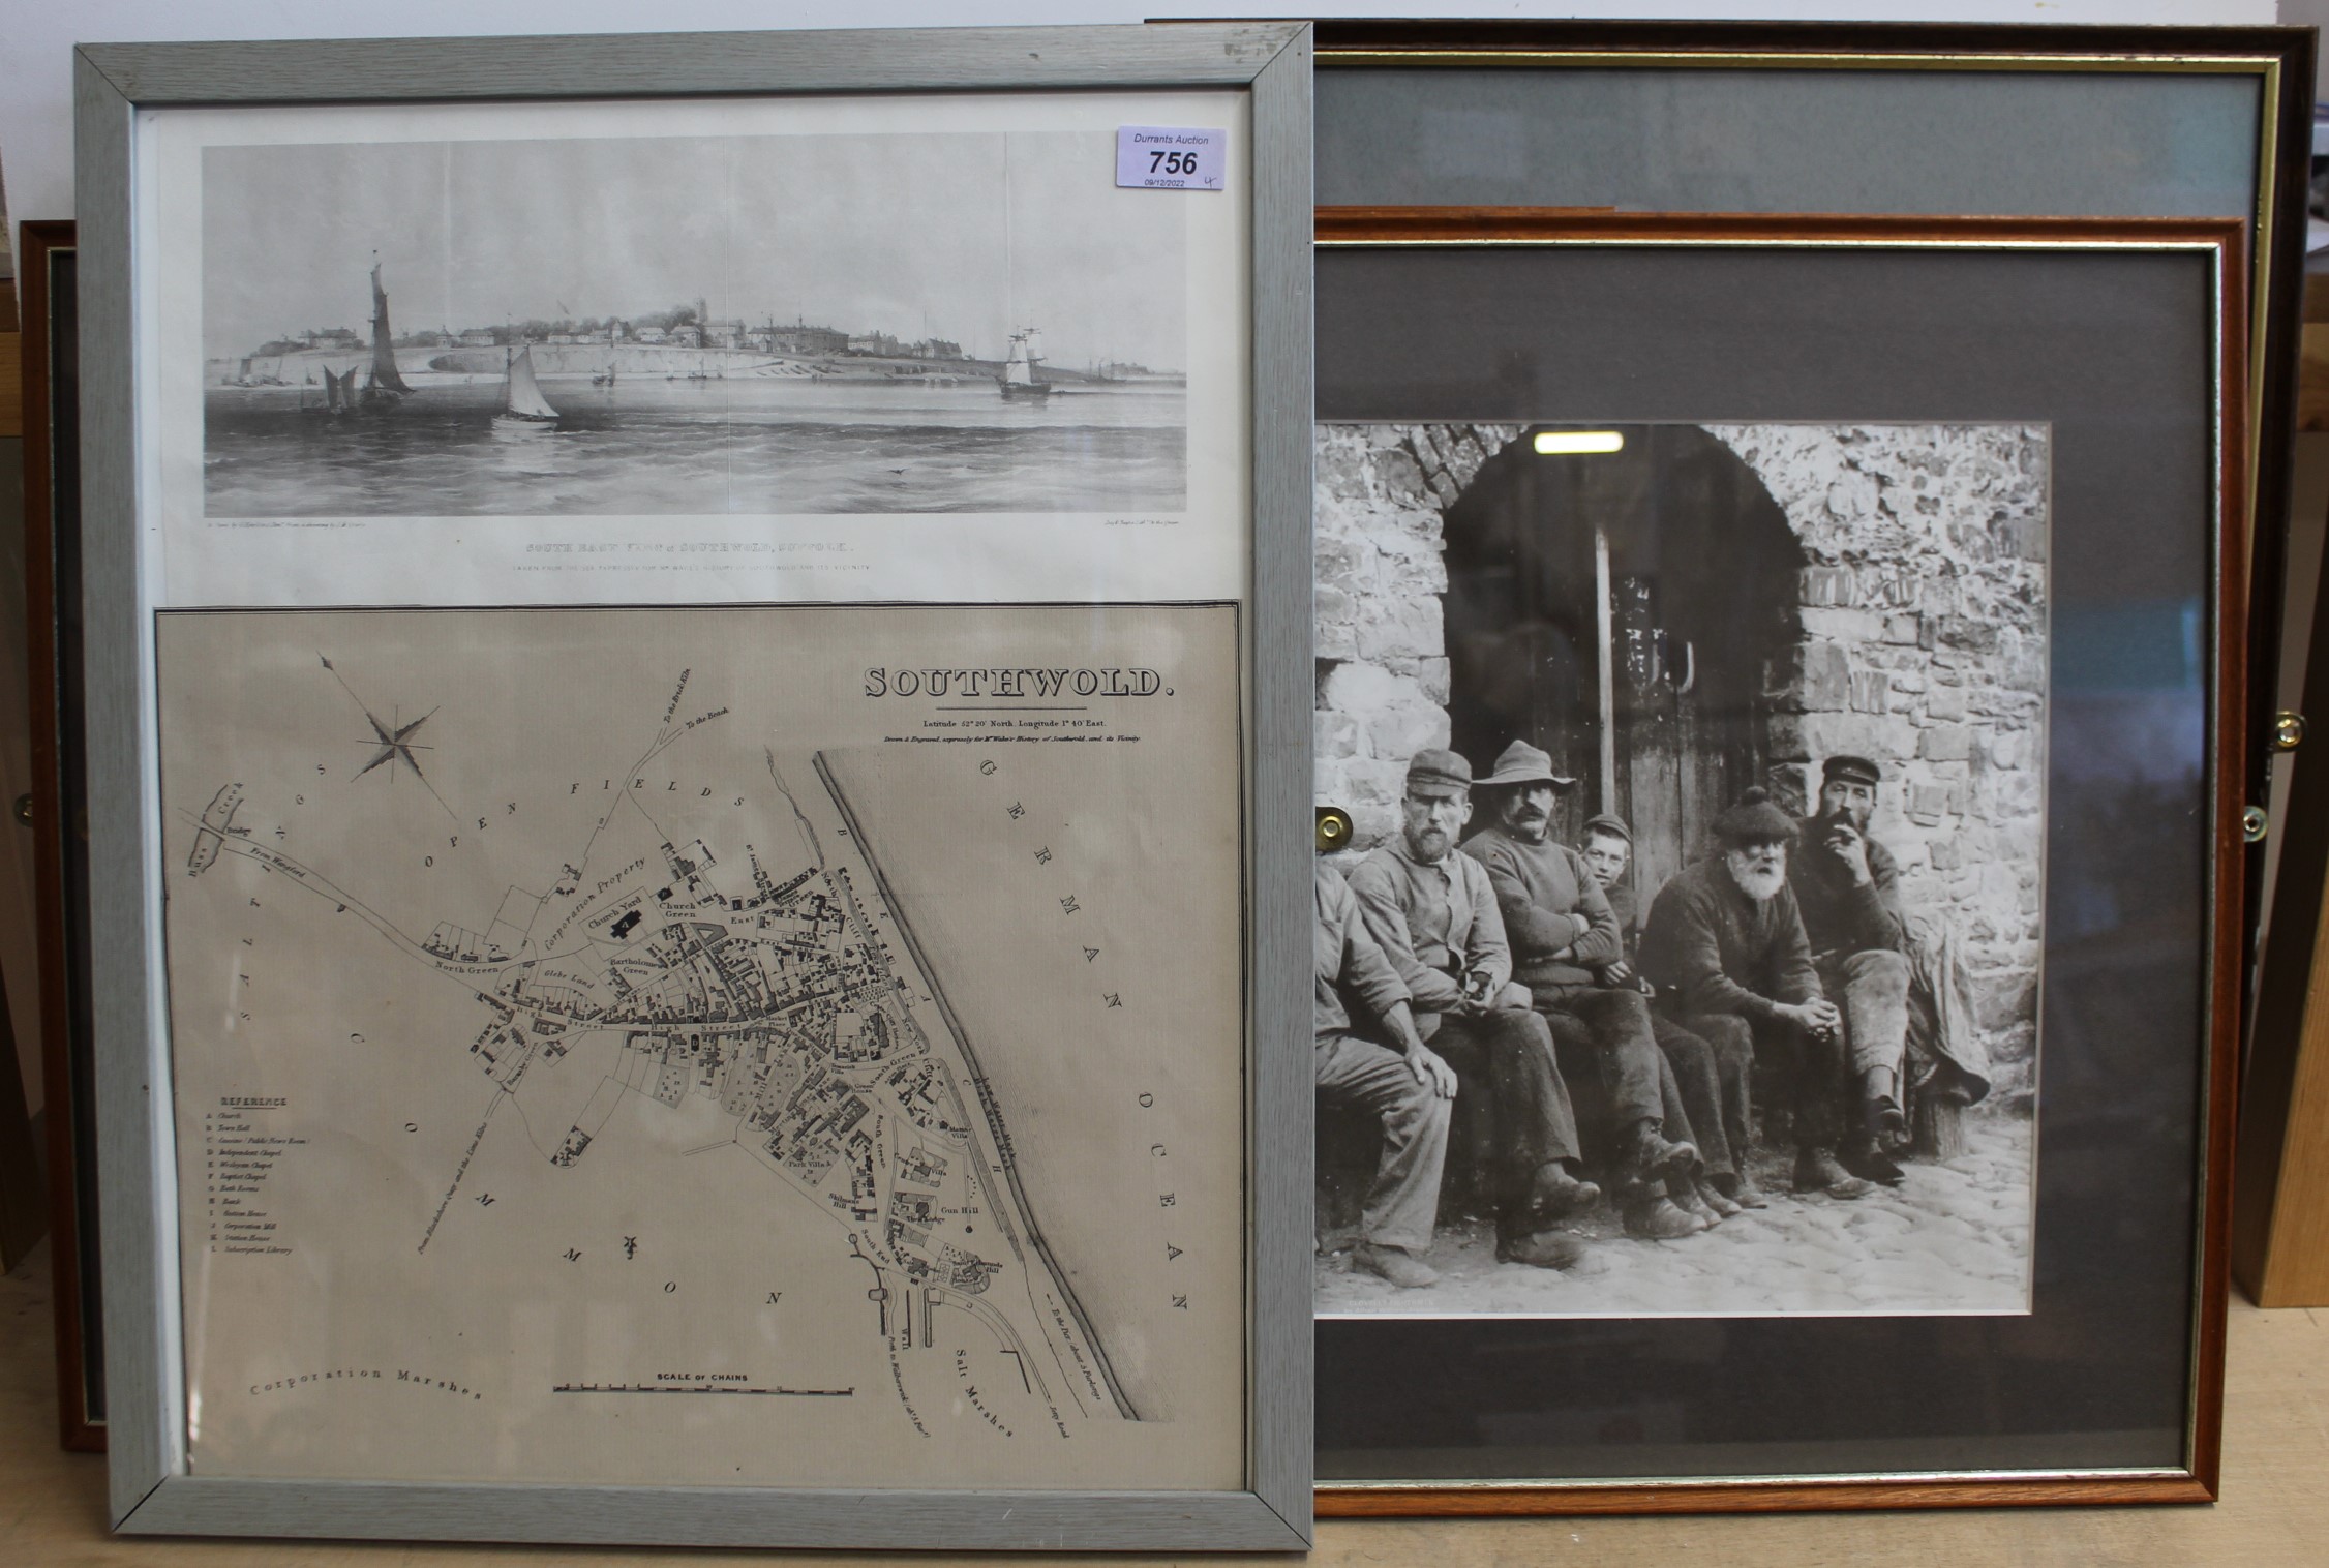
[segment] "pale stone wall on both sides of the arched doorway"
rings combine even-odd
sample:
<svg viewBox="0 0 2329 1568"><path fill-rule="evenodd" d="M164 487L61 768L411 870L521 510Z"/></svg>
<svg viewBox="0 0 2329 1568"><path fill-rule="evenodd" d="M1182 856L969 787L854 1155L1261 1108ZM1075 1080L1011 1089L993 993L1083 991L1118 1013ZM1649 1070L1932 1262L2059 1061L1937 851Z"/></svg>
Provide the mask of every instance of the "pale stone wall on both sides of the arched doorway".
<svg viewBox="0 0 2329 1568"><path fill-rule="evenodd" d="M1523 426L1321 426L1316 790L1367 848L1407 757L1449 741L1444 510ZM1975 976L2001 1088L2036 1044L2047 676L2047 447L2038 426L1707 426L1803 550L1765 669L1772 792L1819 762L1884 769L1875 832L1907 904ZM1484 767L1486 757L1474 757Z"/></svg>

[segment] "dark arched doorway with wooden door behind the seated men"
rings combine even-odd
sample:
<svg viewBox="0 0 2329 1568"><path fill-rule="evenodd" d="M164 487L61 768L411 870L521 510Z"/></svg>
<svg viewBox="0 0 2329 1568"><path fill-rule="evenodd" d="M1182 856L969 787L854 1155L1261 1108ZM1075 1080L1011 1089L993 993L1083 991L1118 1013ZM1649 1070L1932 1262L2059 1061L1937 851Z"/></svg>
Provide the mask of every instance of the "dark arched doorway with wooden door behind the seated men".
<svg viewBox="0 0 2329 1568"><path fill-rule="evenodd" d="M1570 843L1595 811L1626 818L1647 899L1765 778L1803 548L1696 424L1600 426L1623 447L1539 454L1535 436L1563 429L1523 431L1446 508L1449 720L1481 771L1528 739L1581 781L1556 820Z"/></svg>

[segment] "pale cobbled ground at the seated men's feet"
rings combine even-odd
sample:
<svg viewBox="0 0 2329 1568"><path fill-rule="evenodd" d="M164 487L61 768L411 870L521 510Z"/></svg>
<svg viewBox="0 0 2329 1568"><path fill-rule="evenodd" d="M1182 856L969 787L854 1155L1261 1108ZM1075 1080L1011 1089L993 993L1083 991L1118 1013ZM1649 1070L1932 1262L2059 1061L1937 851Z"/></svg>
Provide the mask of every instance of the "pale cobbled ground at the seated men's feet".
<svg viewBox="0 0 2329 1568"><path fill-rule="evenodd" d="M1768 1209L1749 1209L1679 1242L1635 1242L1600 1205L1570 1228L1586 1260L1553 1272L1495 1260L1484 1219L1444 1223L1428 1256L1437 1286L1400 1291L1351 1270L1351 1235L1318 1256L1318 1314L1770 1314L1770 1312L2024 1312L2031 1270L2031 1121L1966 1118L1966 1153L1907 1160L1898 1188L1866 1198L1798 1198L1791 1156L1756 1153Z"/></svg>

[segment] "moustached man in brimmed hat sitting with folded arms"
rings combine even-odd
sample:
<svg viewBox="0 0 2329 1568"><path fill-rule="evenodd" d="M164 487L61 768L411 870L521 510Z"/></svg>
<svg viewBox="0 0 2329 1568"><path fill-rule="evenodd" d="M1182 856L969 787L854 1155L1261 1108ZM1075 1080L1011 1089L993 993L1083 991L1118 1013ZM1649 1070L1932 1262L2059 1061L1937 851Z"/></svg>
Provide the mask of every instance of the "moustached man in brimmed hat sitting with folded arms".
<svg viewBox="0 0 2329 1568"><path fill-rule="evenodd" d="M1696 1174L1698 1149L1665 1137L1665 1058L1651 1037L1649 1002L1598 979L1621 958L1616 916L1584 857L1551 836L1553 797L1574 783L1553 771L1546 753L1514 741L1479 781L1484 792L1495 790L1495 820L1463 850L1488 871L1512 941L1512 976L1544 1013L1563 1076L1598 1079L1609 1102L1602 1163L1626 1232L1663 1242L1705 1230L1665 1191L1668 1179Z"/></svg>

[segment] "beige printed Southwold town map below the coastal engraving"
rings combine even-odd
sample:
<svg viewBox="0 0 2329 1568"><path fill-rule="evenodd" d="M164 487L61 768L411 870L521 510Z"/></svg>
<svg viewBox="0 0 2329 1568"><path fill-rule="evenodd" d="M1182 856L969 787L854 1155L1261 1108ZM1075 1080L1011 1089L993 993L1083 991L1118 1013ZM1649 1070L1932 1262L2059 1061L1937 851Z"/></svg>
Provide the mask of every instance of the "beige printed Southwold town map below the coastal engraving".
<svg viewBox="0 0 2329 1568"><path fill-rule="evenodd" d="M1239 1484L1234 610L158 676L196 1472Z"/></svg>

